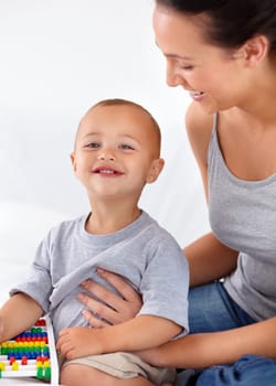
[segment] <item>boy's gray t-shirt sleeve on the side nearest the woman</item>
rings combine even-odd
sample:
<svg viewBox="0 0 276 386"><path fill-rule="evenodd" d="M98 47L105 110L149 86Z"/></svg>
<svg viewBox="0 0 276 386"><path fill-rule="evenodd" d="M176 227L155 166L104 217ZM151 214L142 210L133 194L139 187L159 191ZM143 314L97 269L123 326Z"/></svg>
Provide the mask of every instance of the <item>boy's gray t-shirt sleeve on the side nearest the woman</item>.
<svg viewBox="0 0 276 386"><path fill-rule="evenodd" d="M151 255L141 280L144 305L139 312L161 317L183 328L187 334L189 266L182 249L170 235L150 245ZM180 336L180 335L178 335Z"/></svg>

